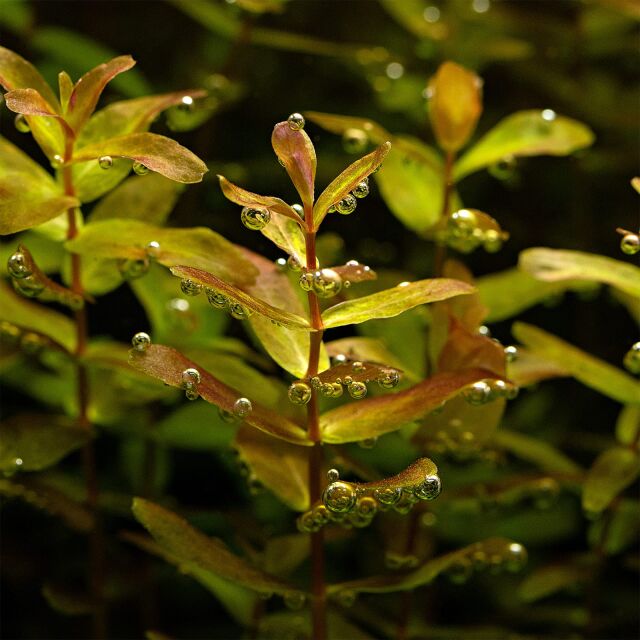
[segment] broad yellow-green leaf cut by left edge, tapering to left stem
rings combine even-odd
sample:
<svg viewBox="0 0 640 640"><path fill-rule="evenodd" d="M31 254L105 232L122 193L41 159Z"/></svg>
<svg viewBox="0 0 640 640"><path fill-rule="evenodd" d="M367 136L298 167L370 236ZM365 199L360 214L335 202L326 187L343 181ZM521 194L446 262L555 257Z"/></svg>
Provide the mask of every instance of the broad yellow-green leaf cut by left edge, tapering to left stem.
<svg viewBox="0 0 640 640"><path fill-rule="evenodd" d="M0 235L35 227L78 204L42 167L0 137Z"/></svg>

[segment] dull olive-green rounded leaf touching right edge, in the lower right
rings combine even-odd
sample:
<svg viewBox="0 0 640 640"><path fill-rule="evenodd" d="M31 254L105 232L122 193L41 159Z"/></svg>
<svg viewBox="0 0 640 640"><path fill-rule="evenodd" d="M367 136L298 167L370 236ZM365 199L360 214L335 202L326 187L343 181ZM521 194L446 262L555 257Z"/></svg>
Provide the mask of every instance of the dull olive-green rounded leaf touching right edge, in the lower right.
<svg viewBox="0 0 640 640"><path fill-rule="evenodd" d="M600 513L626 489L640 473L638 452L628 447L612 447L595 460L584 482L582 508Z"/></svg>

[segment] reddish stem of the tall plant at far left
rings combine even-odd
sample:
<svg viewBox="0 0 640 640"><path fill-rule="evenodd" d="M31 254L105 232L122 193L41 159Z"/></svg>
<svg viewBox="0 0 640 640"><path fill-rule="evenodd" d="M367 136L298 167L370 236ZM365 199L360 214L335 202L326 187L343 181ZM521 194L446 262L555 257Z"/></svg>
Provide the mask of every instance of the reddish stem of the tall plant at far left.
<svg viewBox="0 0 640 640"><path fill-rule="evenodd" d="M67 135L65 149L64 167L62 169L62 179L64 191L68 196L75 196L73 184L73 173L70 163L73 154L73 140ZM76 208L72 207L67 211L68 231L67 239L71 240L78 234L76 221ZM71 289L79 296L84 296L82 287L82 263L78 254L71 254ZM75 311L76 325L76 393L78 402L78 425L83 429L91 430L89 420L89 380L87 369L82 364L81 358L87 348L87 310L83 305L81 309ZM98 509L98 474L96 469L95 449L92 440L85 444L82 451L82 464L86 483L87 506L93 515L93 529L89 535L89 582L93 600L93 637L100 639L107 637L107 613L104 601L104 578L105 578L105 546L102 522Z"/></svg>

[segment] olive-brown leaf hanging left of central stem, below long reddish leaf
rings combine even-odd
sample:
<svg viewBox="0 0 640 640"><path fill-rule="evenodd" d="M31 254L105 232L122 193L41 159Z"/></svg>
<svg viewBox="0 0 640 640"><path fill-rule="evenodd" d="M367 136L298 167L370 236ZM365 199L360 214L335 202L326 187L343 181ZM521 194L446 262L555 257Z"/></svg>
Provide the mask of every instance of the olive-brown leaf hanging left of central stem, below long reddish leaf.
<svg viewBox="0 0 640 640"><path fill-rule="evenodd" d="M234 446L255 476L294 511L309 508L309 456L306 449L275 441L246 426L238 429Z"/></svg>

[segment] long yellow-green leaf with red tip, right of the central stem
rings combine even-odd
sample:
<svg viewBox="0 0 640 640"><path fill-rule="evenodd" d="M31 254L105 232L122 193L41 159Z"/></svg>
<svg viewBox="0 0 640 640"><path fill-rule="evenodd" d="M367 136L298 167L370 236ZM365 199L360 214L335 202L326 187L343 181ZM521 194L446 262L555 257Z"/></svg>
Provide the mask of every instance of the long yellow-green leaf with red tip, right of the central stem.
<svg viewBox="0 0 640 640"><path fill-rule="evenodd" d="M395 431L418 420L479 380L495 379L485 369L438 373L394 394L359 400L320 417L323 442L358 442Z"/></svg>

